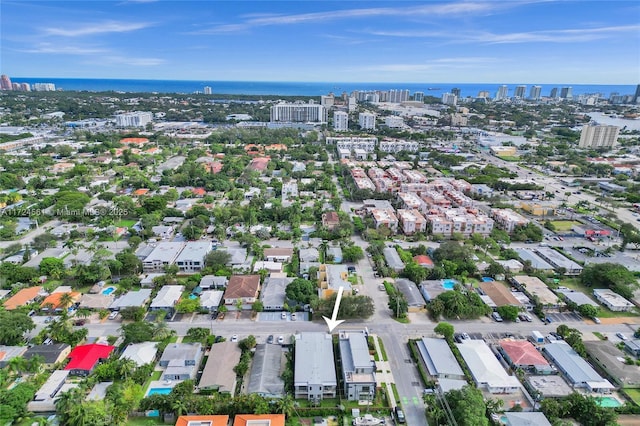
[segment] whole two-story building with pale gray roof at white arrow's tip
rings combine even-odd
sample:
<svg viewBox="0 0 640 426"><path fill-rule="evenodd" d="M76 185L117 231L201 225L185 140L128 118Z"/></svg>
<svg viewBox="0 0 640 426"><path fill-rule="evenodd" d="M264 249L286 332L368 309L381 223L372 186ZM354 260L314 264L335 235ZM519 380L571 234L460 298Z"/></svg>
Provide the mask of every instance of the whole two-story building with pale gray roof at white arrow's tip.
<svg viewBox="0 0 640 426"><path fill-rule="evenodd" d="M295 344L294 396L312 401L335 398L338 387L331 335L300 333Z"/></svg>

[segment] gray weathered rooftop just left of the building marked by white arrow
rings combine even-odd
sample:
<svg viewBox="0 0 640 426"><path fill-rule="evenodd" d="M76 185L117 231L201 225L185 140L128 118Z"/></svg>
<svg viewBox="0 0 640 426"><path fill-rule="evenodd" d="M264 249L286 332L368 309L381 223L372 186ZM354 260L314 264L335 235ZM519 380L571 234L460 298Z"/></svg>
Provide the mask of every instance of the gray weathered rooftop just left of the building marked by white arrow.
<svg viewBox="0 0 640 426"><path fill-rule="evenodd" d="M262 396L280 397L284 395L285 357L280 345L260 344L256 346L249 374L248 393Z"/></svg>

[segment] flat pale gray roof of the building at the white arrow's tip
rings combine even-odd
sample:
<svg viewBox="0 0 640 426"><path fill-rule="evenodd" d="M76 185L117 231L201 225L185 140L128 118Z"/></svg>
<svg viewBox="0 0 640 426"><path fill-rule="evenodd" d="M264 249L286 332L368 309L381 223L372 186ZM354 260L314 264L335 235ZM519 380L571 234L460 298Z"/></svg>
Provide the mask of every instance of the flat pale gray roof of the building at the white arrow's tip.
<svg viewBox="0 0 640 426"><path fill-rule="evenodd" d="M327 333L301 333L296 341L296 386L336 386L336 370L331 335Z"/></svg>

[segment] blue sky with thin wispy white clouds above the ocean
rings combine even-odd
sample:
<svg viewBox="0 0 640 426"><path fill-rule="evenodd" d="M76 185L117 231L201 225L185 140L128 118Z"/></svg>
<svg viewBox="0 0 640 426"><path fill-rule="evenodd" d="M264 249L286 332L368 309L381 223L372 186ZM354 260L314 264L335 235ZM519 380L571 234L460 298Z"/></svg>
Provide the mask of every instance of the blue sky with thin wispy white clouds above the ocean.
<svg viewBox="0 0 640 426"><path fill-rule="evenodd" d="M640 83L633 0L2 0L0 28L12 78Z"/></svg>

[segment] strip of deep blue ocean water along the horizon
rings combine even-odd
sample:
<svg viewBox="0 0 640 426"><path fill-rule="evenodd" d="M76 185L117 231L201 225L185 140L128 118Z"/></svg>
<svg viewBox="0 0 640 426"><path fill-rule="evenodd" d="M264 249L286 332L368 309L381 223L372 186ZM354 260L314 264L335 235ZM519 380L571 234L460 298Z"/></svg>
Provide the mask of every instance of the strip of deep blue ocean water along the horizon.
<svg viewBox="0 0 640 426"><path fill-rule="evenodd" d="M268 81L203 81L203 80L116 80L90 78L20 78L12 77L12 81L19 83L53 83L57 89L89 91L89 92L158 92L158 93L195 93L203 92L205 86L211 87L214 94L232 95L281 95L281 96L320 96L333 92L350 93L353 90L391 90L408 89L410 93L424 92L425 95L440 97L443 93L451 92L453 88L460 89L461 97L478 96L480 91L488 91L490 97L495 96L498 87L495 83L340 83L340 82L268 82ZM522 83L525 84L525 83ZM532 85L527 86L526 95ZM518 84L508 84L509 94L512 95ZM542 96L548 96L551 89L558 90L565 86L573 88L573 95L586 93L600 93L608 97L612 93L630 95L635 93L633 85L591 85L591 84L539 84L542 86Z"/></svg>

